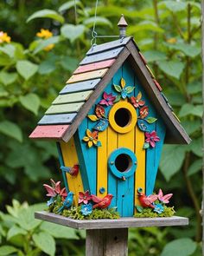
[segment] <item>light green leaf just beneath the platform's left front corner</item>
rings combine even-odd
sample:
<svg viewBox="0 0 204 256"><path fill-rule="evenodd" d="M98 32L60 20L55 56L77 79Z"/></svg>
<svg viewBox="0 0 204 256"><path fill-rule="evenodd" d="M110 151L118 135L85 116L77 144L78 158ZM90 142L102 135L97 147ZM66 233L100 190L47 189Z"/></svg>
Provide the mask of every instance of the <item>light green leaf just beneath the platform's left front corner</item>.
<svg viewBox="0 0 204 256"><path fill-rule="evenodd" d="M76 231L67 226L59 226L57 224L42 222L40 226L42 231L51 234L56 239L79 240Z"/></svg>

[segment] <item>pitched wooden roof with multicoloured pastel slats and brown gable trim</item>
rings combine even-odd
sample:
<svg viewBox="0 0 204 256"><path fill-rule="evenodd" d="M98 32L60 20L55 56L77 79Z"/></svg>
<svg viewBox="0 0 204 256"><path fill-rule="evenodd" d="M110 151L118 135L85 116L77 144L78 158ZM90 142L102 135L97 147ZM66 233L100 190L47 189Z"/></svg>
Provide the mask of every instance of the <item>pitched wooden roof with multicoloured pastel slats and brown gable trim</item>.
<svg viewBox="0 0 204 256"><path fill-rule="evenodd" d="M163 89L132 37L92 46L29 138L69 141L127 58L150 101L166 124L165 142L189 143L191 140L188 134L182 128L168 99L163 95Z"/></svg>

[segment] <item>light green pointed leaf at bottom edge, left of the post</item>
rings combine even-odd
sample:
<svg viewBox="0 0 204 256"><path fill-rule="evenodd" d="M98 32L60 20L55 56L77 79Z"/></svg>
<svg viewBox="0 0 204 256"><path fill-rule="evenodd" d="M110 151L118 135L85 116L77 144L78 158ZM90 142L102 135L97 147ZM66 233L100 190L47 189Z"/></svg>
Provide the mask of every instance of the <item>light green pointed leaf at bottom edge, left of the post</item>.
<svg viewBox="0 0 204 256"><path fill-rule="evenodd" d="M33 240L35 245L38 246L42 252L48 253L48 255L54 256L55 254L55 241L54 238L45 232L34 233Z"/></svg>

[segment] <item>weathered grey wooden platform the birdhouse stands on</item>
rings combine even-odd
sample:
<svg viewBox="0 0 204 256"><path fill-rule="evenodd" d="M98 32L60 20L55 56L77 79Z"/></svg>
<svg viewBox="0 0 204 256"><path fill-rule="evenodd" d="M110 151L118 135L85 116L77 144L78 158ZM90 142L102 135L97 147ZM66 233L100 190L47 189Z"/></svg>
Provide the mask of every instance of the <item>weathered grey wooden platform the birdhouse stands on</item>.
<svg viewBox="0 0 204 256"><path fill-rule="evenodd" d="M35 219L46 220L62 226L69 226L75 229L109 229L128 228L141 226L186 226L188 218L173 216L160 218L134 218L125 217L118 220L73 220L58 214L48 212L35 213Z"/></svg>

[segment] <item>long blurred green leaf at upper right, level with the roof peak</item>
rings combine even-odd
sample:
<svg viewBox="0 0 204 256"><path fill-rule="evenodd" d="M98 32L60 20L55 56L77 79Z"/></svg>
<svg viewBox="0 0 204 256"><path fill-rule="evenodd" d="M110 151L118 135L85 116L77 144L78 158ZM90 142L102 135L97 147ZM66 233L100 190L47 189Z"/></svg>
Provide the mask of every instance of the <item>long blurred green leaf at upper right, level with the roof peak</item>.
<svg viewBox="0 0 204 256"><path fill-rule="evenodd" d="M201 53L201 47L191 45L189 43L164 43L169 49L177 49L182 51L185 56L195 57Z"/></svg>

